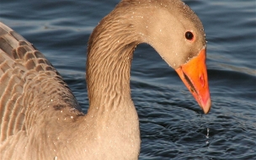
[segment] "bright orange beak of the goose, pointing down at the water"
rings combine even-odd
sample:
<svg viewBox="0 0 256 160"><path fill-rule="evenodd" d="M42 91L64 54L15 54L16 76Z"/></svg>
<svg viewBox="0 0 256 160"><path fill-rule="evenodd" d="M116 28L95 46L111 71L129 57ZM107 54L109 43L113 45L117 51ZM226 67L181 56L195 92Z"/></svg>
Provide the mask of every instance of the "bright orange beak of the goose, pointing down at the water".
<svg viewBox="0 0 256 160"><path fill-rule="evenodd" d="M175 71L178 72L185 86L189 88L190 93L207 114L211 109L211 98L205 65L205 52L205 48L202 49L198 56L195 56Z"/></svg>

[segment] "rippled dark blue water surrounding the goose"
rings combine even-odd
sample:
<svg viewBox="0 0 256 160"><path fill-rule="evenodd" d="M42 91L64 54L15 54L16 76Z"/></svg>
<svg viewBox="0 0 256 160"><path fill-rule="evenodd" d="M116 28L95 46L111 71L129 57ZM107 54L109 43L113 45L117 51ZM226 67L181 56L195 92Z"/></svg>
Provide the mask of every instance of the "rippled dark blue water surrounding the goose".
<svg viewBox="0 0 256 160"><path fill-rule="evenodd" d="M88 109L88 37L119 1L0 1L0 21L33 43ZM140 159L256 159L256 2L184 1L205 26L212 109L203 115L179 77L149 45L136 49L132 99Z"/></svg>

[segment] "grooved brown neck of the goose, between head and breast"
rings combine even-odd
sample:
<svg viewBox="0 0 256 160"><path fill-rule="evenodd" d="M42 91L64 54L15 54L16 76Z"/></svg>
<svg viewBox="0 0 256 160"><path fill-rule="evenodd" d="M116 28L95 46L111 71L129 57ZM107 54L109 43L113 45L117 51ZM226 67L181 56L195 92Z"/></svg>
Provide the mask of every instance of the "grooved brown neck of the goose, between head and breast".
<svg viewBox="0 0 256 160"><path fill-rule="evenodd" d="M117 109L131 101L131 59L141 41L132 24L122 23L125 19L110 19L93 30L88 44L88 111Z"/></svg>

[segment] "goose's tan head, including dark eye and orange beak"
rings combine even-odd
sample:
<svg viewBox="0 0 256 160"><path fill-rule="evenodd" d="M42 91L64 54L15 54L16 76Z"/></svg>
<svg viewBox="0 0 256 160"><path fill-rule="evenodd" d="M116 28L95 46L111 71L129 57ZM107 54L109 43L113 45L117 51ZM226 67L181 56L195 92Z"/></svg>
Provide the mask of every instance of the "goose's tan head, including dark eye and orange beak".
<svg viewBox="0 0 256 160"><path fill-rule="evenodd" d="M136 9L136 4L140 9ZM133 23L142 42L152 45L189 88L207 114L211 109L205 65L205 31L198 16L179 0L133 3Z"/></svg>

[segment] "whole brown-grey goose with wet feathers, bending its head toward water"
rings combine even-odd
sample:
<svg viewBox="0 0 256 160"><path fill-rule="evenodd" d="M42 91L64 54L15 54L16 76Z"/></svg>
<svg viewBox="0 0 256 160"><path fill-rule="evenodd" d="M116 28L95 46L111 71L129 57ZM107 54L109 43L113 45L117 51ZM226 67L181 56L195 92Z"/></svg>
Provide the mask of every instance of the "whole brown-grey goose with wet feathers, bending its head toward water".
<svg viewBox="0 0 256 160"><path fill-rule="evenodd" d="M1 23L1 159L138 159L141 139L130 72L141 43L178 72L207 114L205 31L180 0L122 0L93 29L86 114L51 62Z"/></svg>

